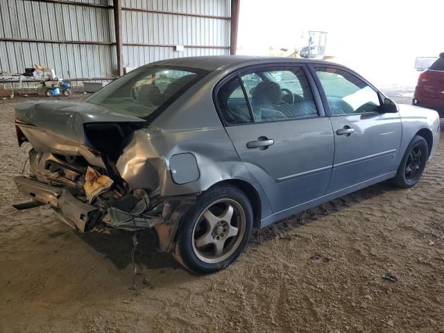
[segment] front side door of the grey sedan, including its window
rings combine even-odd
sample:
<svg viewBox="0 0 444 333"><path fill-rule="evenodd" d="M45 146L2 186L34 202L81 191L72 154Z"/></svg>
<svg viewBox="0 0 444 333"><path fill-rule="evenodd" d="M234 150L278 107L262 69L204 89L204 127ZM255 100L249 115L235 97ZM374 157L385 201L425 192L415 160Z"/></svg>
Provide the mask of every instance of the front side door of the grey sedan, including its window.
<svg viewBox="0 0 444 333"><path fill-rule="evenodd" d="M395 171L402 125L398 113L380 113L379 94L350 71L314 67L330 108L334 166L327 194Z"/></svg>

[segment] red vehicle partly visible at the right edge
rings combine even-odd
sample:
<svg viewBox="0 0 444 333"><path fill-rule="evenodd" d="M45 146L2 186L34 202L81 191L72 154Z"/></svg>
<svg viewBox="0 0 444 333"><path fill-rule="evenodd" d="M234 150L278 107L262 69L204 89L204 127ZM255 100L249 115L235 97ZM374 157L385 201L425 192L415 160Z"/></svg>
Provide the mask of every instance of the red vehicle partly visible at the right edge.
<svg viewBox="0 0 444 333"><path fill-rule="evenodd" d="M418 78L413 105L438 111L444 117L444 52Z"/></svg>

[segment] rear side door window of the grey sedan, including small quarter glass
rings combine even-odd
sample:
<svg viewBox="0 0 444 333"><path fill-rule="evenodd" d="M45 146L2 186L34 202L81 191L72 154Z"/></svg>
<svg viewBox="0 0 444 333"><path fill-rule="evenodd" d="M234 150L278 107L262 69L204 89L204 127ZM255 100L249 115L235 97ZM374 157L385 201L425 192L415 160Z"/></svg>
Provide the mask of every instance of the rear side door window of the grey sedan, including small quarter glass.
<svg viewBox="0 0 444 333"><path fill-rule="evenodd" d="M244 89L239 78L233 78L219 89L217 96L222 117L229 125L318 116L311 88L300 67L248 72L241 75L241 83Z"/></svg>

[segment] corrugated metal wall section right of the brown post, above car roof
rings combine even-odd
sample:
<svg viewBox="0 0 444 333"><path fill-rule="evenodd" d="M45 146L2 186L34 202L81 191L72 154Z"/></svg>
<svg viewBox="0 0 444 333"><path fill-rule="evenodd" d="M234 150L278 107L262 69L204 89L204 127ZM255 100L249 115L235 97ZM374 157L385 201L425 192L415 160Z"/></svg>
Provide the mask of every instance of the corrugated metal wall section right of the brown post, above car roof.
<svg viewBox="0 0 444 333"><path fill-rule="evenodd" d="M123 0L122 6L137 9L123 10L125 67L230 53L229 0ZM176 45L184 51L175 51Z"/></svg>

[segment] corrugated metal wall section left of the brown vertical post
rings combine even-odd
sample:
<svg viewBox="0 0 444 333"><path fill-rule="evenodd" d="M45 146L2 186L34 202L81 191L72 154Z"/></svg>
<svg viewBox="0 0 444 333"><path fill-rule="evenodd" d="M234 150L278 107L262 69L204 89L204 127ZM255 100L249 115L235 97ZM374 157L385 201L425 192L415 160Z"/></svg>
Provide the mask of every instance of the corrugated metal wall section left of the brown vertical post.
<svg viewBox="0 0 444 333"><path fill-rule="evenodd" d="M114 20L108 8L0 0L0 10L0 69L4 71L22 73L37 64L56 69L64 78L68 71L71 78L107 78L116 67ZM1 42L2 38L103 44Z"/></svg>

